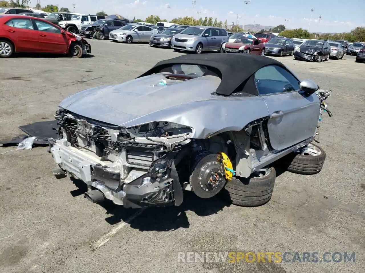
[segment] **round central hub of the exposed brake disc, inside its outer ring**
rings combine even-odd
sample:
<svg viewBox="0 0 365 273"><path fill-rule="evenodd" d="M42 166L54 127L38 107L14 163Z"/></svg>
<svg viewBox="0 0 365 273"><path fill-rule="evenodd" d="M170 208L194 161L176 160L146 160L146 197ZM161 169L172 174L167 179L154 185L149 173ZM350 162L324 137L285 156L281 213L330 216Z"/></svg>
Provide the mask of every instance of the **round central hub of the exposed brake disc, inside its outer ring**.
<svg viewBox="0 0 365 273"><path fill-rule="evenodd" d="M199 185L201 189L210 191L224 183L223 166L217 162L208 162L200 169Z"/></svg>

